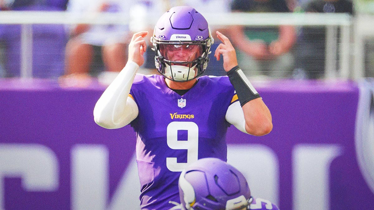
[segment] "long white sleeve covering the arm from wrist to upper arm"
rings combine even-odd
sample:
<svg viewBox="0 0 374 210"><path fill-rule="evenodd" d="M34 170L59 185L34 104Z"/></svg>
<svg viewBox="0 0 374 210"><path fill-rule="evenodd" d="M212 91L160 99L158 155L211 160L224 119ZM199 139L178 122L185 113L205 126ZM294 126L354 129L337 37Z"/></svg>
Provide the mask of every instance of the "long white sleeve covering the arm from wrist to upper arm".
<svg viewBox="0 0 374 210"><path fill-rule="evenodd" d="M128 97L139 66L129 61L101 95L93 109L93 118L101 127L122 128L138 116L138 106Z"/></svg>

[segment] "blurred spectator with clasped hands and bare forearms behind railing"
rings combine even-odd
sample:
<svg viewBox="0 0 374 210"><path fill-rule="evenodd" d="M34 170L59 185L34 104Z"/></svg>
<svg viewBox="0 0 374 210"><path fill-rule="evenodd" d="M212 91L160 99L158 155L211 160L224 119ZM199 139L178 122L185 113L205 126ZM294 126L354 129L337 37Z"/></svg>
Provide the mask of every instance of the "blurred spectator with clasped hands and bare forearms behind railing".
<svg viewBox="0 0 374 210"><path fill-rule="evenodd" d="M233 0L233 12L290 12L285 0ZM293 70L290 52L296 40L295 28L231 27L230 36L237 49L239 66L247 77L288 77Z"/></svg>

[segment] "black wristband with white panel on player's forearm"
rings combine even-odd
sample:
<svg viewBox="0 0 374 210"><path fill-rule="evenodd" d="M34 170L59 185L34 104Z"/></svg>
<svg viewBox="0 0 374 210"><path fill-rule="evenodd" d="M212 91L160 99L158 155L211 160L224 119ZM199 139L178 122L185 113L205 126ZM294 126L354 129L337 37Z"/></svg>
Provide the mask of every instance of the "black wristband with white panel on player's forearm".
<svg viewBox="0 0 374 210"><path fill-rule="evenodd" d="M235 66L230 71L227 71L227 76L229 76L230 82L234 86L240 106L261 97L239 66Z"/></svg>

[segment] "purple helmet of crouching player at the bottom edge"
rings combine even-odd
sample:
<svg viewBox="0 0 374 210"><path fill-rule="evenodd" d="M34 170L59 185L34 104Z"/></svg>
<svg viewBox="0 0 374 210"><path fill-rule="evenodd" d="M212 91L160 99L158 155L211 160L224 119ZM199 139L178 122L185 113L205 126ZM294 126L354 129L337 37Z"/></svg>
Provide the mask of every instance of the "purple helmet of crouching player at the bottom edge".
<svg viewBox="0 0 374 210"><path fill-rule="evenodd" d="M218 158L203 158L179 177L183 210L247 210L252 201L240 171Z"/></svg>

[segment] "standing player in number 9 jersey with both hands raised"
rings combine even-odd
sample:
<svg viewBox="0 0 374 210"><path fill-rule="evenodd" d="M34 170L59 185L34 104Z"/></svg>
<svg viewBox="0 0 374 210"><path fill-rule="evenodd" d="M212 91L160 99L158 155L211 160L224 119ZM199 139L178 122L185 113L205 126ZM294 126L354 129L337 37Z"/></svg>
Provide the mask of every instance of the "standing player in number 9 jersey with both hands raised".
<svg viewBox="0 0 374 210"><path fill-rule="evenodd" d="M201 76L213 38L205 18L192 7L172 7L157 21L151 43L161 75L136 74L144 63L147 31L135 33L129 60L96 103L95 122L104 128L130 124L137 133L141 209L169 209L180 202L178 177L200 158L227 159L226 131L234 125L262 136L272 117L238 67L230 40L217 31L228 76Z"/></svg>

